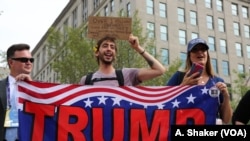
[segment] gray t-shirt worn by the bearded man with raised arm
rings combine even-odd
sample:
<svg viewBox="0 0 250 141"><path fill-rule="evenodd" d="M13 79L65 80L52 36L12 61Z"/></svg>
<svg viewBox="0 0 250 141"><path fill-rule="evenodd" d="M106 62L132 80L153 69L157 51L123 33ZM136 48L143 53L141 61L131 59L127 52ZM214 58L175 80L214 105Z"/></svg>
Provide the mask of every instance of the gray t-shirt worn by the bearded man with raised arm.
<svg viewBox="0 0 250 141"><path fill-rule="evenodd" d="M138 72L139 72L138 68L123 68L122 74L124 78L124 86L136 86L140 84L141 83L140 80L137 79ZM97 71L93 73L92 79L112 78L112 77L116 77L115 72L113 72L112 74L106 75L100 71ZM81 78L79 84L84 85L85 79L86 79L86 75ZM119 83L117 80L104 80L104 81L94 82L93 85L95 86L119 86Z"/></svg>

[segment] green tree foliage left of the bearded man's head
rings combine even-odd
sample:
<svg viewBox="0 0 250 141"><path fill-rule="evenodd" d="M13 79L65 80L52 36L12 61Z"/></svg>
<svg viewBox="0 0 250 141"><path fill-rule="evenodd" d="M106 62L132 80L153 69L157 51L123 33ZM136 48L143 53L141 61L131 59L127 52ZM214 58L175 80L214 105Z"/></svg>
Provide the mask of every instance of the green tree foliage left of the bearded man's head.
<svg viewBox="0 0 250 141"><path fill-rule="evenodd" d="M49 55L54 59L52 67L61 83L78 83L83 74L95 70L93 41L82 36L83 29L67 28L67 38L50 29Z"/></svg>

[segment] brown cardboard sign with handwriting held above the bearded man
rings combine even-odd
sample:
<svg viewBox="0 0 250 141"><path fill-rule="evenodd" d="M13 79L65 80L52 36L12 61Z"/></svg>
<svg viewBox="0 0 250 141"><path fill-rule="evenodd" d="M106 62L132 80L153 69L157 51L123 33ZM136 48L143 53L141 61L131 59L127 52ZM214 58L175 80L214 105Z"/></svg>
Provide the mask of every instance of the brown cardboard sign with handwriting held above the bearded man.
<svg viewBox="0 0 250 141"><path fill-rule="evenodd" d="M131 33L131 18L89 17L88 37L100 39L106 35L120 40L127 40Z"/></svg>

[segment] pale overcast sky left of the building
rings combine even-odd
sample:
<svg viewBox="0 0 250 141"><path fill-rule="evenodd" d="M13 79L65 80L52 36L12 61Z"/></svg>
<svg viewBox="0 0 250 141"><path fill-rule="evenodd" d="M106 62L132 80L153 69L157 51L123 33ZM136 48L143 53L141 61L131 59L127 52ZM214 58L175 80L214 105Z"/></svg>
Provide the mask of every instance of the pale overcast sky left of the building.
<svg viewBox="0 0 250 141"><path fill-rule="evenodd" d="M34 49L69 0L0 0L0 51L15 43Z"/></svg>

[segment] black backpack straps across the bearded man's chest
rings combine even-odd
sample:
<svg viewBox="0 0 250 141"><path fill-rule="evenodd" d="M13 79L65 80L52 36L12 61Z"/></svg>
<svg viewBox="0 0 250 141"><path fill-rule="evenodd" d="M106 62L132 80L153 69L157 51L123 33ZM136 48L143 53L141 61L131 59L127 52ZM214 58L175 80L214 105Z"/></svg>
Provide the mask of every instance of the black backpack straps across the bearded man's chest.
<svg viewBox="0 0 250 141"><path fill-rule="evenodd" d="M88 73L85 79L85 85L93 85L93 83L97 81L117 80L119 83L119 86L124 86L124 78L123 78L122 70L115 70L115 73L116 73L116 77L94 78L93 80L92 80L93 72Z"/></svg>

